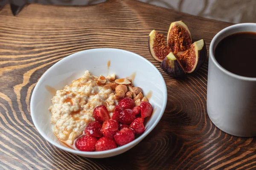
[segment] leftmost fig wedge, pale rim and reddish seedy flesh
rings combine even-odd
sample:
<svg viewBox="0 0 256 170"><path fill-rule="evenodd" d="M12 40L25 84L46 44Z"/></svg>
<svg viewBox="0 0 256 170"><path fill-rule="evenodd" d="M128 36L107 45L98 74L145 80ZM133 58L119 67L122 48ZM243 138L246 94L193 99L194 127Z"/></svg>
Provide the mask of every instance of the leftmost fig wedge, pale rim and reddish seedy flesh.
<svg viewBox="0 0 256 170"><path fill-rule="evenodd" d="M155 30L152 30L148 35L148 48L151 56L159 62L162 62L171 52L170 47L166 45L163 34L159 34Z"/></svg>

